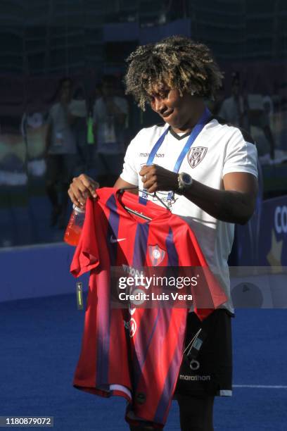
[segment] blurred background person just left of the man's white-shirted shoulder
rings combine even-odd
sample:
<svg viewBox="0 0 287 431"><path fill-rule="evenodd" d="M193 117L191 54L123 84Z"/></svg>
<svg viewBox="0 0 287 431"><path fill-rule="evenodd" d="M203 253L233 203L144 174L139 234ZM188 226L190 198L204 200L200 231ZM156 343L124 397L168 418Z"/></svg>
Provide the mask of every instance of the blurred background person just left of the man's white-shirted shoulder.
<svg viewBox="0 0 287 431"><path fill-rule="evenodd" d="M117 80L103 77L101 96L94 103L94 137L96 141L96 177L102 187L111 187L122 170L125 153L125 129L128 104L118 96Z"/></svg>

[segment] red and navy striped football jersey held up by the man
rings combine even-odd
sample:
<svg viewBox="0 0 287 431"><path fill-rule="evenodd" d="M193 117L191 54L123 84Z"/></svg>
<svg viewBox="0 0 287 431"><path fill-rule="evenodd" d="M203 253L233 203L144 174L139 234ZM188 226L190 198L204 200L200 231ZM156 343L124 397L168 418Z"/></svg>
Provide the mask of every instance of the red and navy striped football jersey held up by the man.
<svg viewBox="0 0 287 431"><path fill-rule="evenodd" d="M91 271L82 349L75 387L93 394L124 396L126 419L162 427L183 357L187 308L113 308L110 268L207 267L196 237L179 216L117 189L88 199L82 235L71 264L76 277ZM144 213L140 219L126 208ZM227 298L215 283L214 308ZM212 310L195 310L200 318Z"/></svg>

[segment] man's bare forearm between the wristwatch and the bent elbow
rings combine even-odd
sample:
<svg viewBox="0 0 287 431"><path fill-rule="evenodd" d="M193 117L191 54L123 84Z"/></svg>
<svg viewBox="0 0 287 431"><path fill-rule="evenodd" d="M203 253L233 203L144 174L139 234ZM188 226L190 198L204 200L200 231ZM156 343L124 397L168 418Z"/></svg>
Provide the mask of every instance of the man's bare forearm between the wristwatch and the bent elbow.
<svg viewBox="0 0 287 431"><path fill-rule="evenodd" d="M247 223L254 211L247 194L213 189L195 180L183 196L212 217L229 223Z"/></svg>

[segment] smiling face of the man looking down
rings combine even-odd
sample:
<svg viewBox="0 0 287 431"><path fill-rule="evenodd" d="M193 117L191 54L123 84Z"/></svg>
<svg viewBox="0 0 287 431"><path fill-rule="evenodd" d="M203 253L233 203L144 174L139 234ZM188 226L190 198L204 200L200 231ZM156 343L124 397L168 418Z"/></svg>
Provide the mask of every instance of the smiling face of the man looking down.
<svg viewBox="0 0 287 431"><path fill-rule="evenodd" d="M167 86L155 87L151 94L151 108L174 132L184 132L190 127L195 113L195 97L187 93L181 96L178 89L170 89Z"/></svg>

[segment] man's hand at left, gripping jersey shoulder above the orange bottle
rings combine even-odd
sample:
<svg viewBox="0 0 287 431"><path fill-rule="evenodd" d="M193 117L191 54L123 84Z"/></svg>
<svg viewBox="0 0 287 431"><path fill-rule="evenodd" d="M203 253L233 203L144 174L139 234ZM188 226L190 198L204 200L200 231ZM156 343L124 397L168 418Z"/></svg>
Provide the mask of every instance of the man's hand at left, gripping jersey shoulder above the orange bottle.
<svg viewBox="0 0 287 431"><path fill-rule="evenodd" d="M73 204L76 206L84 206L88 197L96 197L96 189L98 189L98 187L100 187L100 185L93 180L93 178L81 174L79 177L72 179L68 194Z"/></svg>

